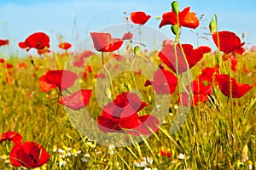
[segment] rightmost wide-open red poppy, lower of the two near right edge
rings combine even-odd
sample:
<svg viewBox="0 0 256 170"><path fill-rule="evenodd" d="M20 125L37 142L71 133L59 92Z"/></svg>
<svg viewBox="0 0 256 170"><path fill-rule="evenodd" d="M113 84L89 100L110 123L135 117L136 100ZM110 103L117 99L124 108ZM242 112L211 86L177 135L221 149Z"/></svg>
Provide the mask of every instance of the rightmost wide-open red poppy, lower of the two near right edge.
<svg viewBox="0 0 256 170"><path fill-rule="evenodd" d="M249 84L243 84L236 82L235 78L231 78L232 84L230 84L230 76L229 75L217 75L216 81L218 82L218 88L225 96L230 97L230 85L232 90L232 98L241 98L244 94L246 94L253 86Z"/></svg>

